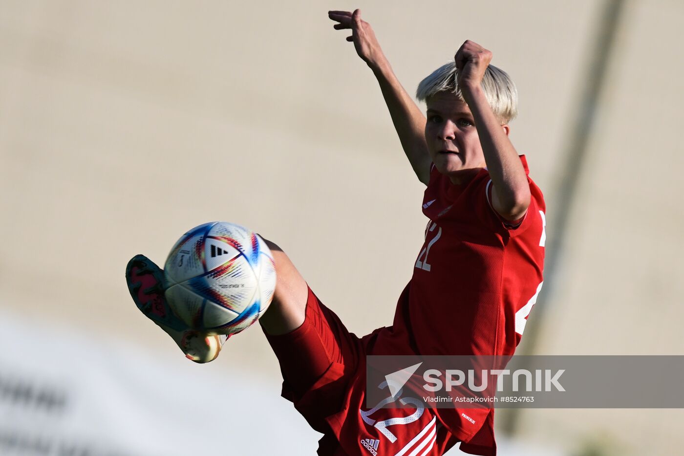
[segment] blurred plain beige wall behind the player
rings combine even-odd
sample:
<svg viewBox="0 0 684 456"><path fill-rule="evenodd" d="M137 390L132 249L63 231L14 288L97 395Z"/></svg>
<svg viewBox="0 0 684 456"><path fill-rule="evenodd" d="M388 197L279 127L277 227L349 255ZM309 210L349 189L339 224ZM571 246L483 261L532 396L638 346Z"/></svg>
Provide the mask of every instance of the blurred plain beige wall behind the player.
<svg viewBox="0 0 684 456"><path fill-rule="evenodd" d="M127 260L163 263L190 227L230 220L278 242L350 330L390 325L423 238L423 188L373 75L326 12L362 8L409 92L466 38L492 50L518 85L512 140L553 220L570 127L590 115L578 99L603 4L0 0L0 321L44 344L74 335L96 347L64 353L72 370L93 362L86 352L106 366L117 347L137 370L163 362L170 376L216 381L247 372L285 403L259 328L216 362L187 362L135 309ZM681 1L624 3L534 353L684 351L682 25ZM38 375L29 347L40 345L0 338ZM9 359L0 379L18 369ZM264 418L231 397L250 422L295 422L311 440L303 451L294 433L274 438L261 454L313 453L317 434L287 403ZM684 445L678 409L525 409L514 420L514 435L498 434L508 454L677 455Z"/></svg>

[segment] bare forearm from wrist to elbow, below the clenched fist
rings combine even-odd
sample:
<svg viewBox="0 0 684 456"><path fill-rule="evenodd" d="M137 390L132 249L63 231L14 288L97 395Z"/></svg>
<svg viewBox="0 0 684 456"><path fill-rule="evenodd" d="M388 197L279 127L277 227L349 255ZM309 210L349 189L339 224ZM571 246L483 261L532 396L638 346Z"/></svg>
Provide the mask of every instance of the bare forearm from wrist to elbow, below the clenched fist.
<svg viewBox="0 0 684 456"><path fill-rule="evenodd" d="M522 216L529 205L530 194L518 153L487 103L482 88L478 86L463 93L475 118L484 160L499 203L496 209L502 216Z"/></svg>

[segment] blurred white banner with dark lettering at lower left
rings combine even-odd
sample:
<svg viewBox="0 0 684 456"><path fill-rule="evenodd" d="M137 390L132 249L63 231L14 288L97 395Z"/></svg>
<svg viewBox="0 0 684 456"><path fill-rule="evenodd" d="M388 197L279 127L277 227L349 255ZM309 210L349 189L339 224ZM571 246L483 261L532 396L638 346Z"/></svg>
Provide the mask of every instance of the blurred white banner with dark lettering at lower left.
<svg viewBox="0 0 684 456"><path fill-rule="evenodd" d="M315 454L320 434L280 398L280 382L247 366L226 374L181 353L162 362L4 311L0 340L0 455Z"/></svg>

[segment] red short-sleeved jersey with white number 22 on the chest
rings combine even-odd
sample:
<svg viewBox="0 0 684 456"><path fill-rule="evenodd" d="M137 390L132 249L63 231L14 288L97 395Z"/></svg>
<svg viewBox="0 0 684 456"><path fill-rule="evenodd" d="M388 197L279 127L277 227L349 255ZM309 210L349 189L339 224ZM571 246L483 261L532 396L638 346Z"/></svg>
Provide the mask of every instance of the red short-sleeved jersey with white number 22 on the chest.
<svg viewBox="0 0 684 456"><path fill-rule="evenodd" d="M524 155L521 161L529 174ZM529 207L521 223L510 227L491 205L486 169L456 185L432 165L423 197L423 214L430 218L425 242L393 326L364 338L367 354L514 353L542 288L544 267L546 205L529 175L527 181ZM462 451L493 453L494 409L434 409L434 414L464 442Z"/></svg>

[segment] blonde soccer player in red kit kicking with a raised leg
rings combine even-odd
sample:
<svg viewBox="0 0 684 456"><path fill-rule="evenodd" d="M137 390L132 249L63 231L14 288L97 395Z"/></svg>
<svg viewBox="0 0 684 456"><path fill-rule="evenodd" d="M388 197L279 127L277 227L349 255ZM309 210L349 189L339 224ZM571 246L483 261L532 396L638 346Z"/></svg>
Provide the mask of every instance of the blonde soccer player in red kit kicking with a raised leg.
<svg viewBox="0 0 684 456"><path fill-rule="evenodd" d="M493 409L365 407L366 355L512 355L542 286L544 199L511 144L517 93L492 53L466 41L453 62L406 93L360 11L332 11L378 79L404 152L427 188L430 221L391 327L358 338L268 242L278 281L261 328L278 357L282 396L324 434L319 455L442 455L457 442L495 455ZM143 255L126 271L137 306L196 362L225 336L192 331L163 296L163 273ZM399 398L395 398L399 399Z"/></svg>

